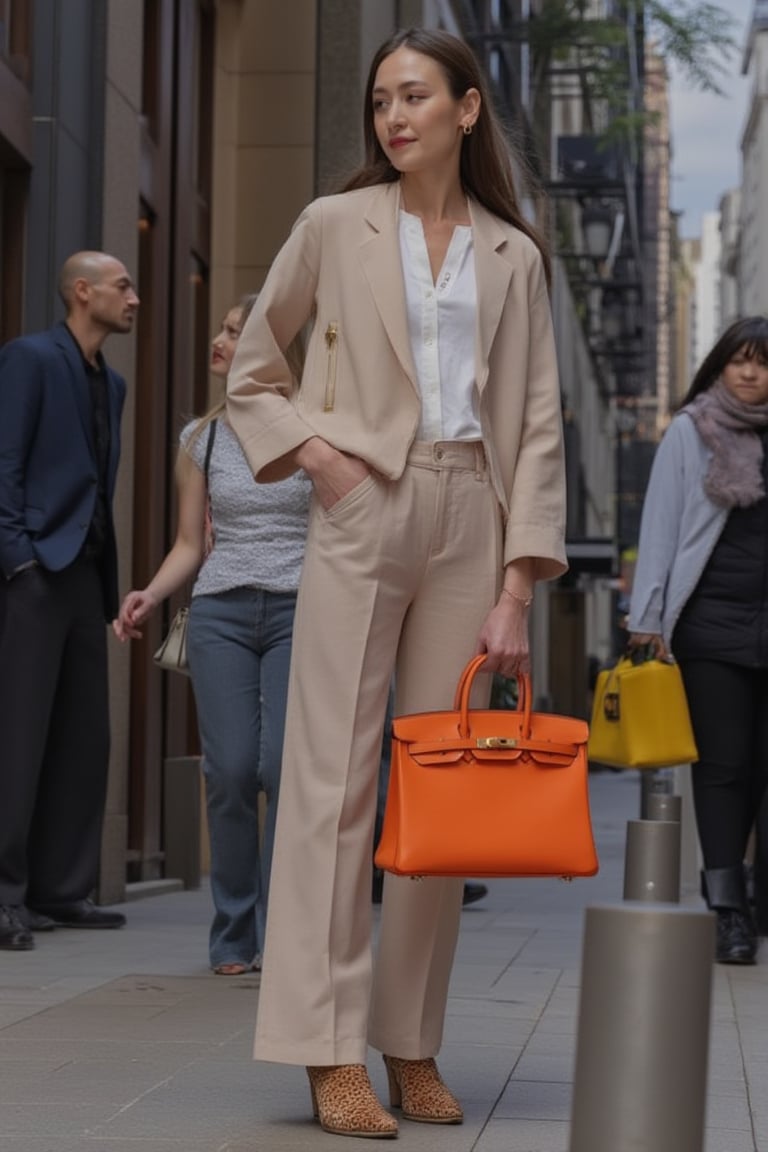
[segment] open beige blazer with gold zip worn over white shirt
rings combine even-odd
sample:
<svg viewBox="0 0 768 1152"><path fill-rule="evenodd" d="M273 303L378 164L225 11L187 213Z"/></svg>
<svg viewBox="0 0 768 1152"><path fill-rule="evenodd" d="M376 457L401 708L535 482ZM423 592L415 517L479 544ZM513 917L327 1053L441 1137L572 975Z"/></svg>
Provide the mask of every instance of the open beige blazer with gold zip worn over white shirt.
<svg viewBox="0 0 768 1152"><path fill-rule="evenodd" d="M259 480L319 435L397 479L420 414L397 213L400 183L314 200L277 253L237 343L229 419ZM478 411L504 517L504 563L565 570L565 480L557 363L538 249L470 200ZM301 385L286 349L311 323Z"/></svg>

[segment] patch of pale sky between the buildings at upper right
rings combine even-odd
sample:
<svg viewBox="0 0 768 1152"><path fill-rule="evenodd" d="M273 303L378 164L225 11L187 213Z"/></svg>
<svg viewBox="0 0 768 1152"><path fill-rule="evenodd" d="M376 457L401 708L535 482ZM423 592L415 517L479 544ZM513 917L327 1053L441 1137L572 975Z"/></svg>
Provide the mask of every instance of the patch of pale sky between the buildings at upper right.
<svg viewBox="0 0 768 1152"><path fill-rule="evenodd" d="M742 76L743 46L752 17L752 0L718 0L733 17L733 38L739 51L731 56L725 97L692 89L676 69L671 71L670 113L672 139L672 209L683 213L682 235L701 233L701 214L717 211L720 197L742 182L742 131L747 107L748 81Z"/></svg>

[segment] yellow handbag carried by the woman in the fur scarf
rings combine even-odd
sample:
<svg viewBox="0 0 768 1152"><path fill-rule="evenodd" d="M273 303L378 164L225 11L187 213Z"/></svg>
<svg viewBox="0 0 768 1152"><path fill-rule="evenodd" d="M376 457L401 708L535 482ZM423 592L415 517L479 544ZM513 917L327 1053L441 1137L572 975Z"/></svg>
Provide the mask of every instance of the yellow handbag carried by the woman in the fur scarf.
<svg viewBox="0 0 768 1152"><path fill-rule="evenodd" d="M588 756L616 768L663 768L699 758L676 664L623 657L600 673Z"/></svg>

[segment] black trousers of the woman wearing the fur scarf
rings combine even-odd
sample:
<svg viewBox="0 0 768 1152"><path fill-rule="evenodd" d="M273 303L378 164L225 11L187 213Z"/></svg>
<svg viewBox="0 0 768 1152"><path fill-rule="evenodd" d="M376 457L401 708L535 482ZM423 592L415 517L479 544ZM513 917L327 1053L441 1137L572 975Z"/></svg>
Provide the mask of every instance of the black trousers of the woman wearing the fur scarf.
<svg viewBox="0 0 768 1152"><path fill-rule="evenodd" d="M706 869L740 866L750 831L768 848L768 669L680 660L699 750L693 803ZM758 880L762 887L758 865ZM768 877L766 877L768 881Z"/></svg>

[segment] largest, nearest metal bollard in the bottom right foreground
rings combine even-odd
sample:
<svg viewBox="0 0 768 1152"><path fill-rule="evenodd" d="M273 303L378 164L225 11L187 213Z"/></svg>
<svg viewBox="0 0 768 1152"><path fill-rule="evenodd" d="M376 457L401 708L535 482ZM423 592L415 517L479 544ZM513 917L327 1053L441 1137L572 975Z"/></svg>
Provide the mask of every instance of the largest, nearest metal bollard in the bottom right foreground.
<svg viewBox="0 0 768 1152"><path fill-rule="evenodd" d="M586 910L570 1152L702 1152L715 917Z"/></svg>

